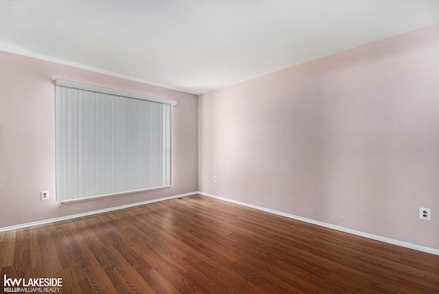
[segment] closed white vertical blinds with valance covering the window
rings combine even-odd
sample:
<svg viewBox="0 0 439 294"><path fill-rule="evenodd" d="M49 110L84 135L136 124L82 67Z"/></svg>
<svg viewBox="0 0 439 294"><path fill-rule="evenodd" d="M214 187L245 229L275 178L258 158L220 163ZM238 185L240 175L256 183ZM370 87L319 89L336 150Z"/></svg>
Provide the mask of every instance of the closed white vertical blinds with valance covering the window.
<svg viewBox="0 0 439 294"><path fill-rule="evenodd" d="M174 101L57 79L58 201L170 186Z"/></svg>

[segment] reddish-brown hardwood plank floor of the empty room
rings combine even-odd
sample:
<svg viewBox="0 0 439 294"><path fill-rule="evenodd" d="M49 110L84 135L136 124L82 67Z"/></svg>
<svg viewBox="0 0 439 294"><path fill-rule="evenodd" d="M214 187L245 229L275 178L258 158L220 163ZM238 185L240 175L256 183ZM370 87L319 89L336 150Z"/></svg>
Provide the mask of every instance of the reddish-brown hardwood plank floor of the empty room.
<svg viewBox="0 0 439 294"><path fill-rule="evenodd" d="M439 293L439 256L201 195L0 232L0 268L59 293Z"/></svg>

